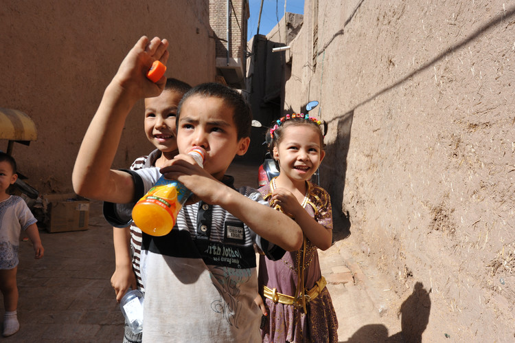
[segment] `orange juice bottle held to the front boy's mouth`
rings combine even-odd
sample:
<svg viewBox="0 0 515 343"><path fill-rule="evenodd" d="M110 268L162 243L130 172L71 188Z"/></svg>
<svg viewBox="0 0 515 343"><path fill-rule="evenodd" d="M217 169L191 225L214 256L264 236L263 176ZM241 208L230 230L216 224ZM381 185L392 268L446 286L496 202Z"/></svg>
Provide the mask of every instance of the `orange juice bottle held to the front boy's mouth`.
<svg viewBox="0 0 515 343"><path fill-rule="evenodd" d="M188 154L203 166L203 148L196 146ZM174 227L177 214L190 195L191 190L179 181L165 179L163 175L134 206L133 221L146 234L164 236Z"/></svg>

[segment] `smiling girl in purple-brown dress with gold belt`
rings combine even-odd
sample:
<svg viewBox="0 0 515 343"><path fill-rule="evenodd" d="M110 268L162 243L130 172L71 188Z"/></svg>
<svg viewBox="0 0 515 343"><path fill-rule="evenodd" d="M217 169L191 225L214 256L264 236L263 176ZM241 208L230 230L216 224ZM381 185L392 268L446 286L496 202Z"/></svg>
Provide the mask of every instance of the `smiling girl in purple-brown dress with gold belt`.
<svg viewBox="0 0 515 343"><path fill-rule="evenodd" d="M271 154L280 174L260 188L271 207L297 221L304 244L279 261L260 256L263 297L263 342L337 342L338 320L317 248L332 244L332 210L328 192L310 179L325 155L320 121L304 114L286 115L270 135Z"/></svg>

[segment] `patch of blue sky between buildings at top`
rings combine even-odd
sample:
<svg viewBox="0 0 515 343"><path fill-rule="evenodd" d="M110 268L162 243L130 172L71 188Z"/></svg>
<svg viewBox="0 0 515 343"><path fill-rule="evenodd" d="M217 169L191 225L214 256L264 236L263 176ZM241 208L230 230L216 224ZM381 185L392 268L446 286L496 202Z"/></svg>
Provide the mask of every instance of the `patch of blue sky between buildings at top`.
<svg viewBox="0 0 515 343"><path fill-rule="evenodd" d="M284 16L285 0L263 0L260 34L268 34L277 25L277 20ZM260 19L261 0L249 0L251 17L247 23L247 41L256 34ZM277 9L277 10L276 10ZM286 0L286 12L304 14L304 0Z"/></svg>

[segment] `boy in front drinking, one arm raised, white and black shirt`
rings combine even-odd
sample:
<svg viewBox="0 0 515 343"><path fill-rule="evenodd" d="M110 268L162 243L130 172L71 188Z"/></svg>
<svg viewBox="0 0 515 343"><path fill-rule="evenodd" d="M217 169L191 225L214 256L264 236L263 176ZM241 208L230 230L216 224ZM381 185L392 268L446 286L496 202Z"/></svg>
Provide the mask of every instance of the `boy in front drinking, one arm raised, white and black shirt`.
<svg viewBox="0 0 515 343"><path fill-rule="evenodd" d="M144 341L260 342L253 244L277 259L284 250L298 250L302 234L259 192L235 190L225 175L250 142L251 113L240 94L213 83L194 87L179 104L179 155L161 169L111 170L128 112L163 89L165 78L154 83L145 74L154 60L166 62L167 47L168 41L141 37L130 50L84 135L73 187L85 197L128 203L129 209L161 174L192 190L192 204L179 212L170 234L143 236ZM205 149L204 168L186 155L193 146ZM124 206L107 213L126 224Z"/></svg>

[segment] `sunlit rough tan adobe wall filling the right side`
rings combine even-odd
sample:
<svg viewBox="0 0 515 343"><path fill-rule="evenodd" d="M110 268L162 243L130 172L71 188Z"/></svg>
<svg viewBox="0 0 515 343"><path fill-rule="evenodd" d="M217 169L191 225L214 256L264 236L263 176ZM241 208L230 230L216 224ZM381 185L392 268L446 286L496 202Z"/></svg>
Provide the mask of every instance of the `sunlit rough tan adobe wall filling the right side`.
<svg viewBox="0 0 515 343"><path fill-rule="evenodd" d="M337 230L370 247L398 295L431 290L424 342L512 341L515 5L317 2L285 101L321 102Z"/></svg>

